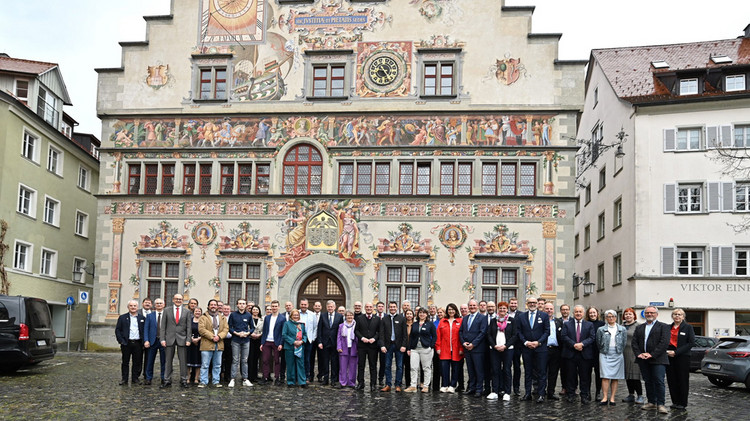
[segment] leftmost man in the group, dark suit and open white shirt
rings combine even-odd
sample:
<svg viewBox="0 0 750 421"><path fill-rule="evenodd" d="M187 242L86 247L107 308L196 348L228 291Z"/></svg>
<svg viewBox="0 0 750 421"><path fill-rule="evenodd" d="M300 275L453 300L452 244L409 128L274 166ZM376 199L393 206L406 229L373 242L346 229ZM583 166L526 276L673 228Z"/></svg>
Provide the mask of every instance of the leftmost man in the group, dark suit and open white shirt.
<svg viewBox="0 0 750 421"><path fill-rule="evenodd" d="M120 386L128 384L128 368L131 359L133 360L131 381L133 384L140 384L138 376L143 363L143 327L145 324L146 318L138 311L138 301L128 301L128 312L117 318L115 326L115 338L122 352Z"/></svg>

